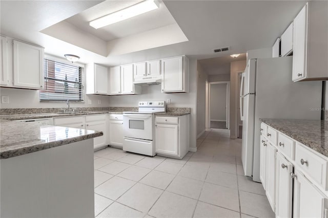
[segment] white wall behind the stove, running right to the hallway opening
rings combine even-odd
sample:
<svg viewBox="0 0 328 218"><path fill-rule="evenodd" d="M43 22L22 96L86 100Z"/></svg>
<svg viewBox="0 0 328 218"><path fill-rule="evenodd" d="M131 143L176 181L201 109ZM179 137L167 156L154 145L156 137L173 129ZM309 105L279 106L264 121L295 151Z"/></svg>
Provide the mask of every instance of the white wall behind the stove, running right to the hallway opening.
<svg viewBox="0 0 328 218"><path fill-rule="evenodd" d="M190 147L196 151L196 89L197 60L190 59L189 93L161 93L161 85L142 86L141 95L117 95L109 97L109 106L135 107L139 101L171 99L169 107L191 107Z"/></svg>

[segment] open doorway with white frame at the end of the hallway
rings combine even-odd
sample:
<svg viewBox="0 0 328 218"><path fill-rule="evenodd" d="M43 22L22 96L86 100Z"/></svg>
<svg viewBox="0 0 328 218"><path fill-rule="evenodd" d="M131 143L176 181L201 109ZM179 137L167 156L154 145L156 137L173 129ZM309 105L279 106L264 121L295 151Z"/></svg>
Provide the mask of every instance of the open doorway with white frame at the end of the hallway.
<svg viewBox="0 0 328 218"><path fill-rule="evenodd" d="M209 82L207 128L230 129L230 81Z"/></svg>

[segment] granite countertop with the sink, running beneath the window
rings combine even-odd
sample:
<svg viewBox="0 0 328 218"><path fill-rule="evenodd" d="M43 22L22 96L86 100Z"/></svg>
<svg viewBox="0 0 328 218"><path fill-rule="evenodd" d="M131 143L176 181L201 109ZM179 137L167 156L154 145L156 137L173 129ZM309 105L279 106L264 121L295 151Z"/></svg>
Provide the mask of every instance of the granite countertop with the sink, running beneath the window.
<svg viewBox="0 0 328 218"><path fill-rule="evenodd" d="M94 114L122 114L120 111L89 111L78 112L72 114L50 113L50 114L16 114L16 115L1 115L0 119L3 120L25 120L25 119L42 119L52 117L68 117L68 116L82 116L82 115L94 115Z"/></svg>

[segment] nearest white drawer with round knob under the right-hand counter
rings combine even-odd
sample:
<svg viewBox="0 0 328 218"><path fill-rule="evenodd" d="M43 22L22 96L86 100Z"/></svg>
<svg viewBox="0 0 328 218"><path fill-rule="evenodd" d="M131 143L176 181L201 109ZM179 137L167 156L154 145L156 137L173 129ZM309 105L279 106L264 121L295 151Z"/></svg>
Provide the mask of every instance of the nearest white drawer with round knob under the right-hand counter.
<svg viewBox="0 0 328 218"><path fill-rule="evenodd" d="M296 143L295 147L295 163L303 172L314 180L324 190L327 187L327 161L311 150L303 147L300 143Z"/></svg>

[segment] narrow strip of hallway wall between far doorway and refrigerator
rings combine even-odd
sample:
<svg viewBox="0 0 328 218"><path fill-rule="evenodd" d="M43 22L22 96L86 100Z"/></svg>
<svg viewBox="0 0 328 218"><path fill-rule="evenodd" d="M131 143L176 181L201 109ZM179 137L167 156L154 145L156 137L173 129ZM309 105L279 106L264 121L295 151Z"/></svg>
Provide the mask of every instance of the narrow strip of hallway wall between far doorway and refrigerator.
<svg viewBox="0 0 328 218"><path fill-rule="evenodd" d="M231 62L230 69L230 138L237 138L238 128L238 73L243 72L246 60Z"/></svg>

